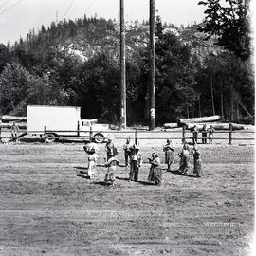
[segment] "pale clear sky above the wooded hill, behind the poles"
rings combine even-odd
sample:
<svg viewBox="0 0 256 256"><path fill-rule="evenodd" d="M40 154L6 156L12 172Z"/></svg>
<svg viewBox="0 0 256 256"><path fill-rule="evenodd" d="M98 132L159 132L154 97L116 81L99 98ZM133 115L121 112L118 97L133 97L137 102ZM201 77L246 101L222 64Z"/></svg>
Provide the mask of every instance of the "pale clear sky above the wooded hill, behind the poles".
<svg viewBox="0 0 256 256"><path fill-rule="evenodd" d="M125 19L149 18L149 0L124 0ZM199 0L155 0L155 10L162 20L174 25L193 24L204 17L204 7ZM33 27L37 31L42 24L52 21L87 16L115 18L119 20L119 0L0 0L0 43L14 43L20 36L26 37Z"/></svg>

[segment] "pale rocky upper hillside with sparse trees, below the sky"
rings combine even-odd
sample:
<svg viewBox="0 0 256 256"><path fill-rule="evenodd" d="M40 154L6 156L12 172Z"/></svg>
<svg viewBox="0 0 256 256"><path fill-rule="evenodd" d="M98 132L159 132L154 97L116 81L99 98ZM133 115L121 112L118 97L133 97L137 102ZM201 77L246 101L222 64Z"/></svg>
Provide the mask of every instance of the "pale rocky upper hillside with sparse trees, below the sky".
<svg viewBox="0 0 256 256"><path fill-rule="evenodd" d="M192 27L164 26L164 33L174 33L181 42L188 45L201 61L211 52L220 52L219 46L214 46L214 40L204 41L205 35L197 31L197 25ZM216 40L215 40L216 41ZM148 46L148 23L126 23L127 58L137 54L137 51ZM119 24L116 21L87 18L76 21L61 21L52 23L47 29L42 27L38 34L27 33L27 39L16 43L15 47L23 46L27 51L42 54L48 48L54 48L59 53L77 58L81 62L88 61L96 54L108 52L113 58L119 57Z"/></svg>

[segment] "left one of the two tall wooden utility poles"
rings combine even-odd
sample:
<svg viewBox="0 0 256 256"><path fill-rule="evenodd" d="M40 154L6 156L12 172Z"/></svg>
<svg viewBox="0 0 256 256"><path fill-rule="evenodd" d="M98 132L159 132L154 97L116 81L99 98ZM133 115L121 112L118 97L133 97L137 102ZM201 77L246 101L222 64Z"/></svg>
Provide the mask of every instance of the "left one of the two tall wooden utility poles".
<svg viewBox="0 0 256 256"><path fill-rule="evenodd" d="M120 0L120 129L126 129L126 75L125 75L125 24L124 0Z"/></svg>

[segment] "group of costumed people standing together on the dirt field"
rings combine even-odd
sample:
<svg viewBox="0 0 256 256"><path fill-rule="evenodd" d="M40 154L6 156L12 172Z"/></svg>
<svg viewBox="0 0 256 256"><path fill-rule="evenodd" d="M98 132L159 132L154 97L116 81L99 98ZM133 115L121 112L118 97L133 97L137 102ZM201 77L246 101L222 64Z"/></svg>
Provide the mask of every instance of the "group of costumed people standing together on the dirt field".
<svg viewBox="0 0 256 256"><path fill-rule="evenodd" d="M87 175L91 179L95 179L97 173L97 152L99 151L97 144L90 142L84 146L84 151L88 154L88 168ZM113 138L109 138L106 146L106 158L105 167L107 172L105 174L104 181L110 183L110 185L116 185L117 168L119 167L119 160L117 155L119 154L117 147L114 145ZM140 147L137 138L135 143L131 143L130 137L126 139L126 143L123 145L125 167L130 168L129 181L138 181L139 168L142 164L142 155L140 153ZM163 146L165 155L165 164L167 164L167 171L172 172L171 166L174 164L174 146L171 139L167 139L167 143ZM178 154L180 157L179 170L180 174L187 175L190 166L190 156L193 155L193 173L199 177L201 174L201 154L196 144L193 145L190 150L187 143L183 144L182 151ZM155 151L151 157L148 158L150 163L150 170L148 175L148 181L155 185L161 185L162 182L162 167L160 157ZM174 171L174 170L173 170Z"/></svg>

